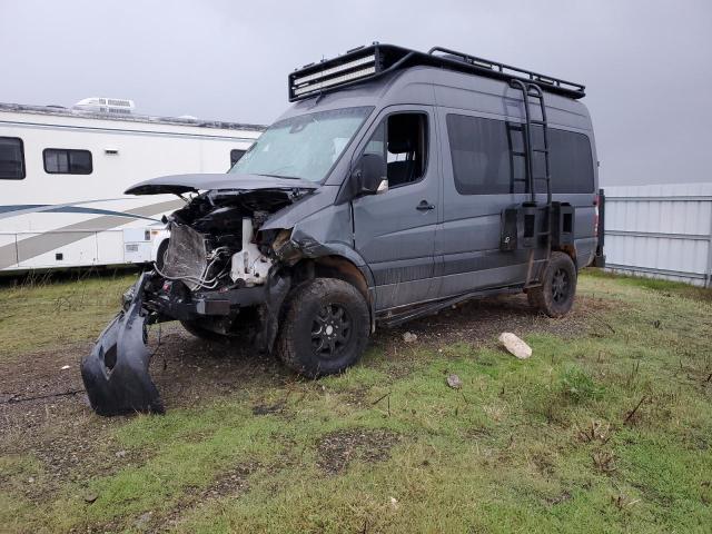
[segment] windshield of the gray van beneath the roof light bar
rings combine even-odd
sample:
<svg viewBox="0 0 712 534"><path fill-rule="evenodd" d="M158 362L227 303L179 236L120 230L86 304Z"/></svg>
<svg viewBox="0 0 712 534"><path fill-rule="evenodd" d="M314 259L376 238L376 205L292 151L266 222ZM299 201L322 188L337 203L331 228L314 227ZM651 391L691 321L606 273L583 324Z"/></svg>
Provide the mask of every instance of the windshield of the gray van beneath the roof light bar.
<svg viewBox="0 0 712 534"><path fill-rule="evenodd" d="M334 109L275 122L230 172L322 181L372 109Z"/></svg>

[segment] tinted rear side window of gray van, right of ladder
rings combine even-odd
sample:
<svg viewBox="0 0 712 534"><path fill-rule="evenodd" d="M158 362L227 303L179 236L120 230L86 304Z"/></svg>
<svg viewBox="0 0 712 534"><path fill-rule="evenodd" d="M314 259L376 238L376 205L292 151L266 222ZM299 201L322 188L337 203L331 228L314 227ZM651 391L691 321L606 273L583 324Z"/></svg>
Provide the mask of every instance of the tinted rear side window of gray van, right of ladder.
<svg viewBox="0 0 712 534"><path fill-rule="evenodd" d="M593 192L593 156L589 137L548 129L552 192Z"/></svg>

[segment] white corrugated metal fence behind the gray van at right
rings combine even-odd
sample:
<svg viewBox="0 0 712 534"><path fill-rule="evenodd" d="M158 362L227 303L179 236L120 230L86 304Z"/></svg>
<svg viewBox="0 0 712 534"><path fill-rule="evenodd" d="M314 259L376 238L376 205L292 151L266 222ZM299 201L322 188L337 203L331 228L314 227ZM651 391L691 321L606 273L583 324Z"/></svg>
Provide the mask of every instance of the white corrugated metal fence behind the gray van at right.
<svg viewBox="0 0 712 534"><path fill-rule="evenodd" d="M710 287L712 184L605 188L606 268Z"/></svg>

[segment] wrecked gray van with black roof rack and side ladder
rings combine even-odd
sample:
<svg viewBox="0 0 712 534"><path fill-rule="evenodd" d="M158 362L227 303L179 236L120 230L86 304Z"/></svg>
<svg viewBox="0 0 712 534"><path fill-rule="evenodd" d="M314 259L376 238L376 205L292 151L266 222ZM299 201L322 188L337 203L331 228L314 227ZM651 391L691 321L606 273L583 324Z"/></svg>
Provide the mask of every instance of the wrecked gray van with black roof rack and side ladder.
<svg viewBox="0 0 712 534"><path fill-rule="evenodd" d="M525 291L560 317L602 260L584 86L379 43L288 81L294 105L228 174L127 191L186 205L82 362L98 413L164 409L147 324L248 336L316 377L354 365L377 325L474 297Z"/></svg>

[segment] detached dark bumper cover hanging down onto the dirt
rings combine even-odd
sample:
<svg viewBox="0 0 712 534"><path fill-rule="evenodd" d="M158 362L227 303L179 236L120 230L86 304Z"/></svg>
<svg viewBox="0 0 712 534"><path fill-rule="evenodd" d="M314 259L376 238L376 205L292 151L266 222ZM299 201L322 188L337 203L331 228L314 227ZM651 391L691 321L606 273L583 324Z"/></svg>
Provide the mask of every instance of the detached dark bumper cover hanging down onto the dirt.
<svg viewBox="0 0 712 534"><path fill-rule="evenodd" d="M147 274L134 286L132 298L101 333L81 362L81 378L93 411L103 416L164 413L164 404L148 372L144 286Z"/></svg>

